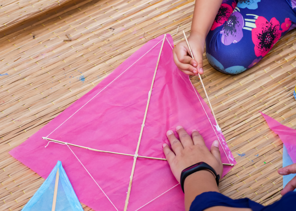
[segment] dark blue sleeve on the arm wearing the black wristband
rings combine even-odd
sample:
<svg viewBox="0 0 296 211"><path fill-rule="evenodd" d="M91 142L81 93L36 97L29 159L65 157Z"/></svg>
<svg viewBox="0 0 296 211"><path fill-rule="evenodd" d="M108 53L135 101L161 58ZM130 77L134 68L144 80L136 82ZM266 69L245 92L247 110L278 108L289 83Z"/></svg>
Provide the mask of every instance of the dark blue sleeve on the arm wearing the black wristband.
<svg viewBox="0 0 296 211"><path fill-rule="evenodd" d="M289 210L296 211L296 193L289 192L280 200L269 206L263 206L248 198L230 199L218 192L205 192L197 197L191 203L189 211L202 211L213 206L227 206L236 208L251 208L253 211L272 211L272 210Z"/></svg>

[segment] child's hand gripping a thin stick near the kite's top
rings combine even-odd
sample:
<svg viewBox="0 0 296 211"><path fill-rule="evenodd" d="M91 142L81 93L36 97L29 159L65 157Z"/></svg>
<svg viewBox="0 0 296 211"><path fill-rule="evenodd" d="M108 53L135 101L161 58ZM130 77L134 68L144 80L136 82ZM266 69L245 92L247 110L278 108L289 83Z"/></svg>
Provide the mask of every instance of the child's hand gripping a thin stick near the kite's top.
<svg viewBox="0 0 296 211"><path fill-rule="evenodd" d="M191 34L188 38L191 54L186 41L178 43L173 49L173 56L176 66L187 75L203 74L203 53L205 40L199 35Z"/></svg>

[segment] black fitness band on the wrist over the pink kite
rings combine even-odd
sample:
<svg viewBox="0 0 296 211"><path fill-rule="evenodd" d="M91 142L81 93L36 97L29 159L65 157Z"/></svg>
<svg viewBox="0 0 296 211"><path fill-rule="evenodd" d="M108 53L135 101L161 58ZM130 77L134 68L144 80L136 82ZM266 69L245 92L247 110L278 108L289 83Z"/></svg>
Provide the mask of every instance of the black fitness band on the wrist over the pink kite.
<svg viewBox="0 0 296 211"><path fill-rule="evenodd" d="M197 164L194 164L192 166L189 166L188 168L185 168L182 173L181 173L181 178L180 178L180 184L184 193L184 181L186 179L186 177L188 177L190 174L193 174L197 171L201 171L204 169L208 169L210 171L212 171L215 176L216 176L216 182L217 182L217 186L219 186L219 179L220 179L220 175L216 173L216 171L214 170L214 168L212 168L210 165L208 165L205 162L199 162Z"/></svg>

